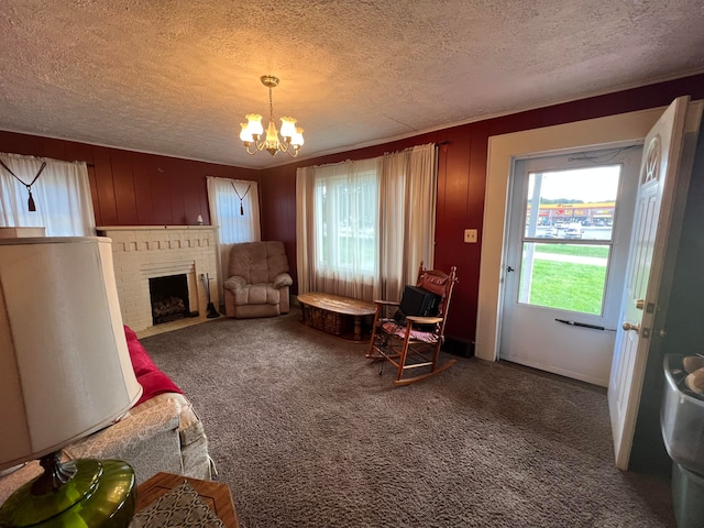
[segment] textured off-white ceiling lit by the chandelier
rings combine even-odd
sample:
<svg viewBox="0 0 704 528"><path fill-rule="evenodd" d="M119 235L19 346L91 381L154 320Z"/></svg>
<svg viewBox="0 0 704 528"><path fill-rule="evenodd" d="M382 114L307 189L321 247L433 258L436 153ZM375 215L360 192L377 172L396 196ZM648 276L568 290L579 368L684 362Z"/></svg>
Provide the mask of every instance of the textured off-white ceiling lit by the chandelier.
<svg viewBox="0 0 704 528"><path fill-rule="evenodd" d="M704 0L2 0L0 129L242 167L704 70Z"/></svg>

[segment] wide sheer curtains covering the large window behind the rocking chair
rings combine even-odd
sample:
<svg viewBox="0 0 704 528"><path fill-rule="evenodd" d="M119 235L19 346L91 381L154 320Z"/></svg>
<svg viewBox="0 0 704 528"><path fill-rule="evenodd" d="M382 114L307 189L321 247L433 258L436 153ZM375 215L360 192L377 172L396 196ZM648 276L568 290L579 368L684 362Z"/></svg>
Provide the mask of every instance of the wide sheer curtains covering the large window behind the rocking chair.
<svg viewBox="0 0 704 528"><path fill-rule="evenodd" d="M435 144L302 167L296 175L298 289L397 300L435 255Z"/></svg>

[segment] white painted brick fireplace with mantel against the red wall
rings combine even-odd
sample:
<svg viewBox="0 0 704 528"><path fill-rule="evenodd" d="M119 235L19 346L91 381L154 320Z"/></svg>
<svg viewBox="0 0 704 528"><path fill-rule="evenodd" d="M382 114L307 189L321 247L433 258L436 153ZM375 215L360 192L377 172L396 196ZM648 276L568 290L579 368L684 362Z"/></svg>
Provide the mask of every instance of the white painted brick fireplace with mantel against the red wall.
<svg viewBox="0 0 704 528"><path fill-rule="evenodd" d="M100 227L112 239L118 296L124 324L134 331L153 326L150 278L185 275L188 311L205 318L208 298L201 275L210 280L210 300L219 306L217 228L210 226Z"/></svg>

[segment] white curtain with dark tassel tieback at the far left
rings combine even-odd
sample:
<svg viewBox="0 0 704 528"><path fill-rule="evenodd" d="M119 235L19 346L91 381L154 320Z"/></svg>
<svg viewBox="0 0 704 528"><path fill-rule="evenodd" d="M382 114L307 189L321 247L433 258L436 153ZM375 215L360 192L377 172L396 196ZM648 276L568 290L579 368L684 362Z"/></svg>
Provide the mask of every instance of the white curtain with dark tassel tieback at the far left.
<svg viewBox="0 0 704 528"><path fill-rule="evenodd" d="M43 227L47 237L95 237L96 217L85 162L0 153L0 226ZM32 184L42 164L40 177ZM19 182L18 178L22 180ZM29 190L36 211L29 210Z"/></svg>

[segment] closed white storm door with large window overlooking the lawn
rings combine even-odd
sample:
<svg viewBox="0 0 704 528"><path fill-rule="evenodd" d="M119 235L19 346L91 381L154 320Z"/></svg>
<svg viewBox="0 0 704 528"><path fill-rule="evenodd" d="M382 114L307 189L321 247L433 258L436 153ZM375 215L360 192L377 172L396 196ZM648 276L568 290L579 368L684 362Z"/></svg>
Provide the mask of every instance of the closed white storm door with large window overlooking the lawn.
<svg viewBox="0 0 704 528"><path fill-rule="evenodd" d="M606 387L639 144L517 161L499 358Z"/></svg>

